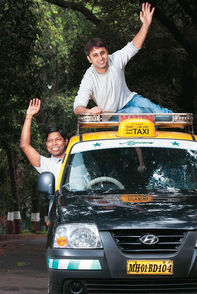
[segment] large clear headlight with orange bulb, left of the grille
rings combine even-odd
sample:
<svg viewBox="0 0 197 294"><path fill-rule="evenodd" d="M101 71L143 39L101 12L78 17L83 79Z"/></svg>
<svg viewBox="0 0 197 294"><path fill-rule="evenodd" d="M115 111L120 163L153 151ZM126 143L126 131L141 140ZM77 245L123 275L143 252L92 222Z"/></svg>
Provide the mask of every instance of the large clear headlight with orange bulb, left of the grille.
<svg viewBox="0 0 197 294"><path fill-rule="evenodd" d="M95 224L75 223L61 225L55 232L53 248L103 248Z"/></svg>

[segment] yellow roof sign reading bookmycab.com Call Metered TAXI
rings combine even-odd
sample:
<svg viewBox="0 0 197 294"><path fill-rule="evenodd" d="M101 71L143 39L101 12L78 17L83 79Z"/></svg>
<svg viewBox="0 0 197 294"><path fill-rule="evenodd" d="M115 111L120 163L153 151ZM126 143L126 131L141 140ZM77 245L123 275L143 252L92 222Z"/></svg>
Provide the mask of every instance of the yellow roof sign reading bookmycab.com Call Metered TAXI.
<svg viewBox="0 0 197 294"><path fill-rule="evenodd" d="M148 119L126 119L118 128L117 137L156 137L155 126Z"/></svg>

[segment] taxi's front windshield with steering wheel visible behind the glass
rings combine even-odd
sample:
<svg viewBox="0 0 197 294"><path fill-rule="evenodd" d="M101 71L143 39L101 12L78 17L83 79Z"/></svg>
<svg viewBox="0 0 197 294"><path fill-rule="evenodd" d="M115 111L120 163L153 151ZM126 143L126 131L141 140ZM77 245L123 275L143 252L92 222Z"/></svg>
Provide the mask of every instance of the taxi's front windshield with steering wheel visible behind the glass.
<svg viewBox="0 0 197 294"><path fill-rule="evenodd" d="M167 147L77 152L70 155L62 194L196 192L196 158L195 150Z"/></svg>

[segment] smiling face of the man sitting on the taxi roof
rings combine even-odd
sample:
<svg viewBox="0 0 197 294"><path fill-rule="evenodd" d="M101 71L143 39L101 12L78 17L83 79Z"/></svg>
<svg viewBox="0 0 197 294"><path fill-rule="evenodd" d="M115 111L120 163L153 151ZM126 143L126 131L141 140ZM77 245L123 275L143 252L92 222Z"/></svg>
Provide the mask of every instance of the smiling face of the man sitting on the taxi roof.
<svg viewBox="0 0 197 294"><path fill-rule="evenodd" d="M87 56L90 63L92 63L99 74L104 74L109 67L108 64L108 51L105 47L94 47L92 51L90 51L89 56Z"/></svg>

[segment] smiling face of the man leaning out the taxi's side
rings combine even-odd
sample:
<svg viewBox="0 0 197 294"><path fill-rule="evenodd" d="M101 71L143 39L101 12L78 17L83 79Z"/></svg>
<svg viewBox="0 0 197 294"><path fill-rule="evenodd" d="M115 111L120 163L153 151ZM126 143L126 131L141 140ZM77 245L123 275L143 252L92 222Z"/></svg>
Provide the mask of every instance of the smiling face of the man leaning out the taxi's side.
<svg viewBox="0 0 197 294"><path fill-rule="evenodd" d="M59 132L50 133L46 141L48 152L58 158L64 157L67 144L68 139L66 138L64 140Z"/></svg>

